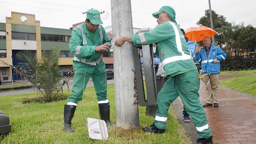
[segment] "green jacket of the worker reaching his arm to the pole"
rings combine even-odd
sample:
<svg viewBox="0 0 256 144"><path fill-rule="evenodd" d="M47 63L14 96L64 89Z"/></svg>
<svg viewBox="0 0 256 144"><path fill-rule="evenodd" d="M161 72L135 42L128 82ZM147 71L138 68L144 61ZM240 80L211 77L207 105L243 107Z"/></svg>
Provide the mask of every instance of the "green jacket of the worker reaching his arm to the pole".
<svg viewBox="0 0 256 144"><path fill-rule="evenodd" d="M150 32L132 35L131 39L135 46L158 44L156 53L159 54L161 65L165 70L164 76L172 77L196 69L184 35L172 21L163 22Z"/></svg>

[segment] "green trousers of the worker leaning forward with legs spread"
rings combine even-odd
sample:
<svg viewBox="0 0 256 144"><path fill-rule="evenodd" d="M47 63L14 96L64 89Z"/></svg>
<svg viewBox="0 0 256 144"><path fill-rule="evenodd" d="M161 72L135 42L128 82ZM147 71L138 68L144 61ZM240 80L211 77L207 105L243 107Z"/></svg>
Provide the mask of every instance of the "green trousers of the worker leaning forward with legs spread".
<svg viewBox="0 0 256 144"><path fill-rule="evenodd" d="M174 82L176 83L175 88ZM198 138L210 137L211 132L208 127L206 114L202 104L200 104L198 93L199 88L200 79L198 78L197 69L179 74L176 78L169 78L157 96L158 108L154 120L156 127L159 129L167 129L166 121L170 104L180 96L187 113L192 117L196 126Z"/></svg>

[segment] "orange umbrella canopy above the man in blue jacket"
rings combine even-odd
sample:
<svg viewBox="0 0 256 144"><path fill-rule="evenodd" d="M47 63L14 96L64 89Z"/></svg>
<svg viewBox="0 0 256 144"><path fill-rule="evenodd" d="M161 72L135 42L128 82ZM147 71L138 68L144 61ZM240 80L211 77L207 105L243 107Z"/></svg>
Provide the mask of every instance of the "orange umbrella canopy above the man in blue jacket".
<svg viewBox="0 0 256 144"><path fill-rule="evenodd" d="M206 26L191 27L185 31L185 35L191 42L199 42L203 40L205 36L212 37L216 34L216 31Z"/></svg>

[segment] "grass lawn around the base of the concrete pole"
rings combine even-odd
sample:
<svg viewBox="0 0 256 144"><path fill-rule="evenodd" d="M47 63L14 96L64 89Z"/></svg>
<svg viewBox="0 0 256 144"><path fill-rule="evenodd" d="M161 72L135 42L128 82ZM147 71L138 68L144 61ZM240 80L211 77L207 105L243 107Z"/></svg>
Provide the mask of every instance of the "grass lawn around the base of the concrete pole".
<svg viewBox="0 0 256 144"><path fill-rule="evenodd" d="M64 90L66 95L71 91ZM0 97L0 109L9 116L12 130L0 136L1 144L191 144L172 106L168 112L167 130L164 134L143 132L144 126L154 122L153 116L146 116L146 107L139 106L140 128L125 130L111 126L107 140L90 140L86 118L99 119L98 104L94 88L86 88L84 99L78 103L72 127L74 133L63 128L63 112L66 100L50 103L22 101L36 97L33 94L18 94ZM108 85L110 120L116 123L114 84Z"/></svg>

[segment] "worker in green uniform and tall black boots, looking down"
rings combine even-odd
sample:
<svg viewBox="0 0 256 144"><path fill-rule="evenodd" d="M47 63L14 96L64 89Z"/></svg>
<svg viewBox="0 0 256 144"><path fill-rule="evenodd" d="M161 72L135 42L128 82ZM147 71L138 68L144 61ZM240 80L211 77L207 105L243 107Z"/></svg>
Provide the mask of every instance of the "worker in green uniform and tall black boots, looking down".
<svg viewBox="0 0 256 144"><path fill-rule="evenodd" d="M74 54L73 68L75 71L72 94L68 103L64 105L64 130L74 132L71 120L76 106L82 100L84 88L90 78L97 95L100 119L107 124L110 122L110 106L107 98L106 66L102 60L102 53L109 52L111 40L106 34L98 10L86 11L86 20L72 30L69 48Z"/></svg>

